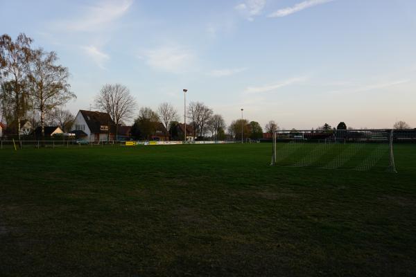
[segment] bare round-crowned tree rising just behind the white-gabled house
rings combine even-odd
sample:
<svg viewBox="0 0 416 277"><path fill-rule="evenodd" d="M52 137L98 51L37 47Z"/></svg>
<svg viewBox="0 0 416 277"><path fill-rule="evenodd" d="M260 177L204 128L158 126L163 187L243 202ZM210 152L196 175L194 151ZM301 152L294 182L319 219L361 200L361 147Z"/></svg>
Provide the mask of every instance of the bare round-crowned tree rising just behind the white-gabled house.
<svg viewBox="0 0 416 277"><path fill-rule="evenodd" d="M116 123L116 136L119 131L119 123L122 120L130 120L136 107L136 100L123 84L105 84L95 98L98 109L110 114Z"/></svg>

